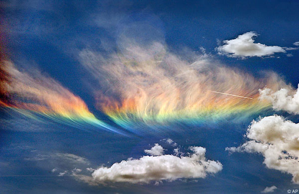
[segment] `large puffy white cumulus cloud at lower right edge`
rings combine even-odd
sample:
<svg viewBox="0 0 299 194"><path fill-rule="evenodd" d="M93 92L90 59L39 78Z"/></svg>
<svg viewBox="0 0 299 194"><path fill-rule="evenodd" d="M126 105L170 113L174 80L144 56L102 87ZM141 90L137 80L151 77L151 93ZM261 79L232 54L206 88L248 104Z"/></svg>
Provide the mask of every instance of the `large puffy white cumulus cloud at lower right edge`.
<svg viewBox="0 0 299 194"><path fill-rule="evenodd" d="M226 150L260 153L268 168L293 175L293 182L299 184L299 123L278 115L267 116L253 120L246 136L249 141Z"/></svg>

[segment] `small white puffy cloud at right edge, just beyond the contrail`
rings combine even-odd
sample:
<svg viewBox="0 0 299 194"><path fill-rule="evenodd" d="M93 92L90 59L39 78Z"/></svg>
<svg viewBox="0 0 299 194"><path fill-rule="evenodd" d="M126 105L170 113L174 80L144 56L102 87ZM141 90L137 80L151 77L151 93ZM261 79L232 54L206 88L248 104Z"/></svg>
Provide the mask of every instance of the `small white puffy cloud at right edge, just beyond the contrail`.
<svg viewBox="0 0 299 194"><path fill-rule="evenodd" d="M269 100L275 110L285 110L289 113L299 114L299 90L295 91L291 87L283 88L279 91L272 91L265 88L259 90L261 100Z"/></svg>

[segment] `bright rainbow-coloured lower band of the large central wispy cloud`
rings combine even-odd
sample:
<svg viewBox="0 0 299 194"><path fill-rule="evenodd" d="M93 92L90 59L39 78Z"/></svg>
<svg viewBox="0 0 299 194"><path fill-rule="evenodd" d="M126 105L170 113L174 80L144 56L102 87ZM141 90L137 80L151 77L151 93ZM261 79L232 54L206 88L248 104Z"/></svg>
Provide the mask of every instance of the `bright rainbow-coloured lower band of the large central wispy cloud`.
<svg viewBox="0 0 299 194"><path fill-rule="evenodd" d="M214 95L210 103L193 104L179 109L178 107L165 107L154 112L153 109L142 109L138 106L138 99L127 99L121 106L104 107L103 111L117 124L130 128L136 123L162 124L172 121L205 122L217 121L234 116L244 119L271 110L267 101L252 99L239 99L239 97L223 97ZM253 96L258 98L258 95ZM217 99L218 98L218 99ZM220 100L221 99L221 100Z"/></svg>

